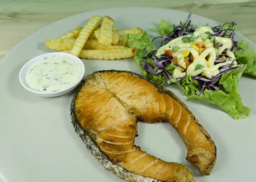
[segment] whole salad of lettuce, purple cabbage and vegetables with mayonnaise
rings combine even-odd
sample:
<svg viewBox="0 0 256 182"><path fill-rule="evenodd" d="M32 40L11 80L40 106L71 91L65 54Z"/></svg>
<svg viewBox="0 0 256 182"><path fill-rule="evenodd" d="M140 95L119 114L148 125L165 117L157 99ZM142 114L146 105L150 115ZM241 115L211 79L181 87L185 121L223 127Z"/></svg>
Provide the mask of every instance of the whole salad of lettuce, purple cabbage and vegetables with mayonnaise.
<svg viewBox="0 0 256 182"><path fill-rule="evenodd" d="M238 83L243 74L256 77L256 52L244 40L235 41L236 23L197 27L190 20L171 25L161 20L153 27L161 36L152 41L147 32L128 34L136 47L134 59L144 76L162 86L177 84L187 100L218 105L235 119L247 118L251 109L242 104ZM156 49L153 41L161 39Z"/></svg>

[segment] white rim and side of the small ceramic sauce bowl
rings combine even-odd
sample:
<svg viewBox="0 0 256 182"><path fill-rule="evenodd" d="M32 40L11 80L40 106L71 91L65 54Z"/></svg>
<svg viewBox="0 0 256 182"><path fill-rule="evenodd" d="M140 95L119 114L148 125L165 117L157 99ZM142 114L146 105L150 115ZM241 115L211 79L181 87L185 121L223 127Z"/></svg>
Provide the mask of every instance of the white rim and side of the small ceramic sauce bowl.
<svg viewBox="0 0 256 182"><path fill-rule="evenodd" d="M71 85L70 87L68 87L68 88L66 88L64 90L59 90L59 91L56 91L56 92L38 92L36 90L30 89L26 85L26 82L25 82L25 75L26 75L27 70L29 69L29 66L34 64L36 61L38 61L40 59L43 59L43 58L46 58L46 57L58 56L58 55L71 57L75 61L77 61L79 64L81 64L81 68L82 68L81 75L80 75L79 79L76 81L76 83L74 83L73 85ZM81 80L83 79L83 77L84 77L84 70L85 70L84 69L84 63L78 57L76 57L74 55L71 55L71 54L68 54L68 53L64 53L64 52L51 52L51 53L46 53L46 54L43 54L43 55L39 55L39 56L37 56L35 58L32 58L28 62L26 62L26 64L24 64L22 66L22 68L20 69L19 80L20 80L20 84L26 90L28 90L30 92L33 92L33 93L38 94L38 95L43 96L43 97L57 97L57 96L60 96L60 95L64 95L67 92L70 92L71 90L76 88L79 85L79 83L81 82Z"/></svg>

